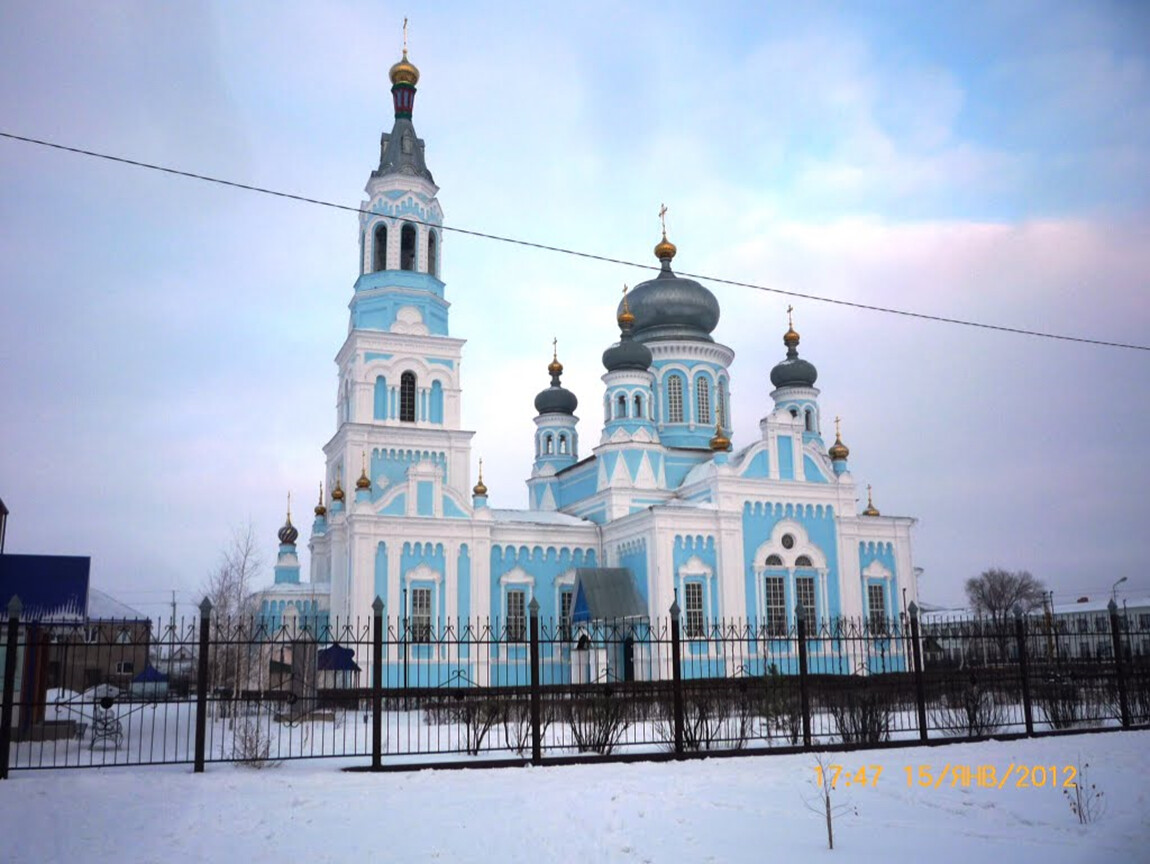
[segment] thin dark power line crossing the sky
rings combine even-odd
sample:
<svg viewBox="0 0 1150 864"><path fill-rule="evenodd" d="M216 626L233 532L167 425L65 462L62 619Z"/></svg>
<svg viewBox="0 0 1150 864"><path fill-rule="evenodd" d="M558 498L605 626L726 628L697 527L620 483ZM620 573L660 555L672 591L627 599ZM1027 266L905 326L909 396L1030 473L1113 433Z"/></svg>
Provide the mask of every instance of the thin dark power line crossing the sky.
<svg viewBox="0 0 1150 864"><path fill-rule="evenodd" d="M30 138L23 135L14 135L12 132L0 131L0 137L8 138L10 140L23 142L24 144L34 144L40 147L49 147L52 150L64 151L67 153L75 153L77 155L91 156L93 159L102 159L108 162L117 162L120 165L129 165L135 168L146 168L152 171L161 171L163 174L171 174L177 177L186 177L189 179L204 181L205 183L215 183L221 186L230 186L232 189L241 189L246 192L258 192L260 194L273 196L275 198L286 198L288 200L299 201L300 204L310 204L317 207L329 207L337 211L346 211L348 213L367 214L370 215L370 211L366 211L362 207L353 207L347 204L338 204L336 201L327 201L322 198L309 198L307 196L293 194L291 192L283 192L276 189L268 189L267 186L255 186L250 183L238 183L236 181L223 179L222 177L213 177L206 174L195 174L194 171L185 171L179 168L171 168L162 165L154 165L152 162L141 162L136 159L128 159L125 156L115 156L109 153L99 153L92 150L84 150L83 147L69 147L64 144L56 144L55 142L47 142L40 138ZM465 235L467 237L477 237L485 240L496 240L498 243L508 243L515 246L526 246L528 249L536 249L543 252L555 252L564 255L573 255L575 258L583 258L590 261L601 261L604 263L622 265L623 267L638 267L644 270L658 270L659 268L649 265L639 263L637 261L627 261L621 258L611 258L610 255L599 255L593 252L582 252L580 250L567 249L565 246L552 246L546 243L534 243L531 240L524 240L516 237L506 237L498 234L489 234L486 231L475 231L467 228L458 228L454 225L436 225L430 222L424 222L417 219L405 217L405 221L419 225L428 225L431 228L437 228L442 231L452 231L454 234ZM1005 324L991 324L984 321L969 321L967 319L951 318L949 315L931 315L926 312L912 312L910 309L899 309L892 306L879 306L868 303L858 303L856 300L843 300L836 297L822 297L820 295L805 293L803 291L791 291L782 288L770 288L768 285L760 285L754 282L741 282L738 280L727 280L719 276L708 276L706 274L698 273L687 273L680 272L680 276L688 276L696 280L705 280L707 282L713 282L720 285L734 285L736 288L750 288L756 291L766 291L768 293L782 295L784 297L798 297L804 300L813 300L815 303L829 303L835 306L846 306L854 309L864 309L866 312L879 312L887 315L900 315L903 318L918 319L920 321L934 321L942 324L957 324L959 327L975 327L982 330L994 330L996 332L1007 332L1015 336L1034 336L1043 339L1057 339L1059 342L1074 342L1083 345L1097 345L1101 347L1117 347L1126 349L1129 351L1148 351L1150 352L1150 345L1136 345L1127 342L1110 342L1106 339L1091 339L1086 336L1071 336L1067 334L1049 332L1045 330L1030 330L1022 327L1007 327Z"/></svg>

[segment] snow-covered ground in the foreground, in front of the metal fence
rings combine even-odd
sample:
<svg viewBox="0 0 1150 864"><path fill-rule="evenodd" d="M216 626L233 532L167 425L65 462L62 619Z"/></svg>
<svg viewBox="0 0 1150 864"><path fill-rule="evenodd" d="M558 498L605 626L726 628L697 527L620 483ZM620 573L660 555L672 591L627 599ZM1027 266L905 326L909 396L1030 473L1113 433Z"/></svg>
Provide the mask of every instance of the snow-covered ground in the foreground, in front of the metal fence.
<svg viewBox="0 0 1150 864"><path fill-rule="evenodd" d="M1150 732L828 755L876 783L839 786L827 850L813 756L547 769L345 773L363 759L14 772L0 861L1150 862ZM1063 790L907 787L905 766L1089 763L1104 812ZM873 778L874 770L867 772ZM830 857L826 857L830 856ZM994 856L994 858L989 857Z"/></svg>

